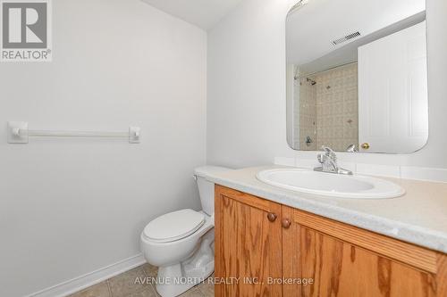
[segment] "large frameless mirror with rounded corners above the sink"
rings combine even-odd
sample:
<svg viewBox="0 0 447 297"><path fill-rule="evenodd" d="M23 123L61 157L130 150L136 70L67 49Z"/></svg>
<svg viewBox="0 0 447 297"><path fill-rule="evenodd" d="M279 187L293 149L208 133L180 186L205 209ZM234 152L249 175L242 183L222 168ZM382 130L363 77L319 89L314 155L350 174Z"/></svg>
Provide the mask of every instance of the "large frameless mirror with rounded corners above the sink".
<svg viewBox="0 0 447 297"><path fill-rule="evenodd" d="M423 0L304 0L286 30L293 149L413 153L426 144Z"/></svg>

